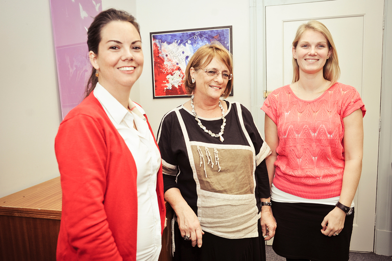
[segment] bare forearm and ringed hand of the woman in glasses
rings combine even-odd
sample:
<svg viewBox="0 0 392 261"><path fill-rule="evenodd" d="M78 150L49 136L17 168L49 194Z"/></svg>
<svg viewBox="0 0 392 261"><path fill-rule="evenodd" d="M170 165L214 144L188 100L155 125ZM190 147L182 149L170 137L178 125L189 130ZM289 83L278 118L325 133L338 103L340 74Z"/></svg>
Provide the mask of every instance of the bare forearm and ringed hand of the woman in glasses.
<svg viewBox="0 0 392 261"><path fill-rule="evenodd" d="M177 188L171 188L165 192L165 200L177 215L178 227L181 237L187 236L192 240L192 246L201 247L202 236L204 232L201 230L200 222L188 203L181 195L181 191Z"/></svg>

